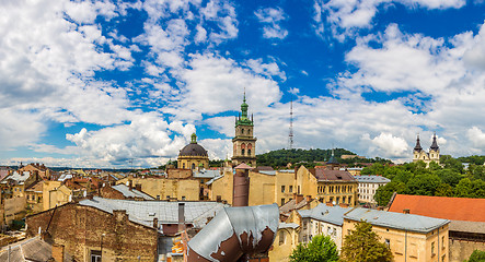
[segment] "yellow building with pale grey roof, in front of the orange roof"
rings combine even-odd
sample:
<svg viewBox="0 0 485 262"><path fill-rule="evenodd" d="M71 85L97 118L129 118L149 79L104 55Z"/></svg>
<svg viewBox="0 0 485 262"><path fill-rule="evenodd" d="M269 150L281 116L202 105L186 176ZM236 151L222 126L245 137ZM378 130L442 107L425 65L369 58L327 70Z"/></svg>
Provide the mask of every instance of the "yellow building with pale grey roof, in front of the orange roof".
<svg viewBox="0 0 485 262"><path fill-rule="evenodd" d="M390 247L395 262L449 261L448 219L354 209L344 215L343 234L348 235L360 221L372 225L372 230Z"/></svg>

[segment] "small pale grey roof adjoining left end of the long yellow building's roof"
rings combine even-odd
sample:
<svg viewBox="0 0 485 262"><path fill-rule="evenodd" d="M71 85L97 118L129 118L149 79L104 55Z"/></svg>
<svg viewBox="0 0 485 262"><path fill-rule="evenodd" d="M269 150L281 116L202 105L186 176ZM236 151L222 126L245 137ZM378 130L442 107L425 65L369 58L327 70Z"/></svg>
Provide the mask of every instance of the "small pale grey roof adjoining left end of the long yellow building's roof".
<svg viewBox="0 0 485 262"><path fill-rule="evenodd" d="M301 217L312 218L321 222L327 222L334 225L342 226L344 224L344 214L349 212L351 207L328 206L326 204L319 204L311 210L298 211Z"/></svg>

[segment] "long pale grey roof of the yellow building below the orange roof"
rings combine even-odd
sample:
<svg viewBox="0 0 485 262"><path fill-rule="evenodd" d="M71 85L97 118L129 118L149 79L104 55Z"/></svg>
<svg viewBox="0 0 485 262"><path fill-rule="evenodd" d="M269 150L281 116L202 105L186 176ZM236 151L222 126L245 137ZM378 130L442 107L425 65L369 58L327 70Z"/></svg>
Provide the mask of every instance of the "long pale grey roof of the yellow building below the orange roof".
<svg viewBox="0 0 485 262"><path fill-rule="evenodd" d="M354 209L344 215L344 218L358 222L367 221L376 226L417 233L429 233L450 223L448 219L369 209Z"/></svg>

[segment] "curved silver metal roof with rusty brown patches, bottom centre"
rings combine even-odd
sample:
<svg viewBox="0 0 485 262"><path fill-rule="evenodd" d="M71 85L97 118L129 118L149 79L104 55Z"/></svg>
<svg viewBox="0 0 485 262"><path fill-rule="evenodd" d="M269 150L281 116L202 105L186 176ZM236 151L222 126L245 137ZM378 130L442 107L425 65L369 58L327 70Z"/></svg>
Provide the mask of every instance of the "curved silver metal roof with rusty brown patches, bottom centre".
<svg viewBox="0 0 485 262"><path fill-rule="evenodd" d="M266 252L278 230L278 205L227 207L188 241L188 262L233 262Z"/></svg>

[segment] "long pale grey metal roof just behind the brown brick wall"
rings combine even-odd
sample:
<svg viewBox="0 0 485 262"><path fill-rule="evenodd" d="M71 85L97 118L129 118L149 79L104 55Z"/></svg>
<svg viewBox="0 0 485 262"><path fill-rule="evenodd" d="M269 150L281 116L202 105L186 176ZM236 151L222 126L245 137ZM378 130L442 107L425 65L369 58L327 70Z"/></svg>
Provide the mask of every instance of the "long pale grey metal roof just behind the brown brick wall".
<svg viewBox="0 0 485 262"><path fill-rule="evenodd" d="M79 202L81 205L92 206L112 214L115 210L126 210L129 221L149 227L153 226L155 217L159 224L178 223L178 203L185 203L185 222L195 227L204 227L208 217L213 217L222 207L229 206L217 202L134 201L97 196Z"/></svg>

